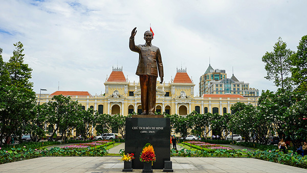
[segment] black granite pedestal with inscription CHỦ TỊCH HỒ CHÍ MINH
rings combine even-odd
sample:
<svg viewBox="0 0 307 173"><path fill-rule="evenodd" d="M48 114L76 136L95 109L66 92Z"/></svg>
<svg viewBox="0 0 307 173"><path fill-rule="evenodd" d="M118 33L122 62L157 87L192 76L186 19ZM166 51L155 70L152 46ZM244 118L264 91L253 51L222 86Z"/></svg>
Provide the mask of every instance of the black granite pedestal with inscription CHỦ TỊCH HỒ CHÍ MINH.
<svg viewBox="0 0 307 173"><path fill-rule="evenodd" d="M139 158L146 143L150 143L155 150L156 162L153 162L153 169L163 169L164 161L170 161L169 122L169 118L126 118L125 153L135 154L132 165L134 169L143 168Z"/></svg>

